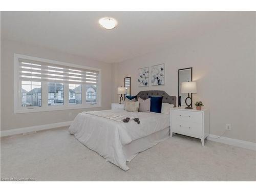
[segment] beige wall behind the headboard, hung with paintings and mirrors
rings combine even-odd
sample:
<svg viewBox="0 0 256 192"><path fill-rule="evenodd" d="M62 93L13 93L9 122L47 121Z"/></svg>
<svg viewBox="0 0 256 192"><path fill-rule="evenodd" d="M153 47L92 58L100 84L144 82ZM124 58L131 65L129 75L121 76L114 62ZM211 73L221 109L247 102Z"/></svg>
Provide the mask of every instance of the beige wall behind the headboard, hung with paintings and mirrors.
<svg viewBox="0 0 256 192"><path fill-rule="evenodd" d="M165 63L165 85L139 88L138 69L158 63ZM132 95L164 90L177 96L178 69L187 67L193 67L198 86L193 102L201 100L210 110L210 134L222 135L231 123L224 136L255 142L255 14L241 14L223 29L114 64L113 101L118 102L116 89L126 76L131 76Z"/></svg>

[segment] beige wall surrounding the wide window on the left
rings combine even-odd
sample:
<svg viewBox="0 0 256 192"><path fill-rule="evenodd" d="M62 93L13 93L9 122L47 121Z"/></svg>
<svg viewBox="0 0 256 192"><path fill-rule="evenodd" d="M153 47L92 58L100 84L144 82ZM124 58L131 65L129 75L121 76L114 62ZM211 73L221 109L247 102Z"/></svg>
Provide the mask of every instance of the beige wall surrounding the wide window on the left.
<svg viewBox="0 0 256 192"><path fill-rule="evenodd" d="M102 70L102 107L111 108L111 65L108 63L71 55L56 50L49 50L42 47L30 46L19 42L1 41L1 130L16 129L33 125L42 125L73 120L74 117L84 111L62 110L51 112L36 112L13 114L13 53L24 54L34 57L52 59L63 62L75 63ZM87 109L90 110L90 109ZM71 113L71 114L70 114Z"/></svg>

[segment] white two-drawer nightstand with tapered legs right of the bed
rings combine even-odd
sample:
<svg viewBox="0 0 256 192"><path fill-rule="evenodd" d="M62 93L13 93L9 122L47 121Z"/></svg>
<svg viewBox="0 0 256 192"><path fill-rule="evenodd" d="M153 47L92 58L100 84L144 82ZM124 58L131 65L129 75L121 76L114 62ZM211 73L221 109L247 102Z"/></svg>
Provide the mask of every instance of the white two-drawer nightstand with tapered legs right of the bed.
<svg viewBox="0 0 256 192"><path fill-rule="evenodd" d="M204 139L209 135L209 111L202 109L173 108L170 111L170 136L173 133Z"/></svg>

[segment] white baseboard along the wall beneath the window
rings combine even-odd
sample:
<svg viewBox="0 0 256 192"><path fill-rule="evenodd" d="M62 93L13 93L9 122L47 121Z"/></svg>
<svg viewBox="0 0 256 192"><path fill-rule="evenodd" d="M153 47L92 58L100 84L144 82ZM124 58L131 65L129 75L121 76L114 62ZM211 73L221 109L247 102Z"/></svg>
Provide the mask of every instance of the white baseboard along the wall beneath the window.
<svg viewBox="0 0 256 192"><path fill-rule="evenodd" d="M61 126L69 126L71 123L72 121L65 121L65 122L59 122L59 123L51 123L51 124L36 125L36 126L29 126L29 127L18 128L18 129L5 130L5 131L1 131L1 137L23 134L23 133L34 132L34 131L49 130L49 129L53 129Z"/></svg>

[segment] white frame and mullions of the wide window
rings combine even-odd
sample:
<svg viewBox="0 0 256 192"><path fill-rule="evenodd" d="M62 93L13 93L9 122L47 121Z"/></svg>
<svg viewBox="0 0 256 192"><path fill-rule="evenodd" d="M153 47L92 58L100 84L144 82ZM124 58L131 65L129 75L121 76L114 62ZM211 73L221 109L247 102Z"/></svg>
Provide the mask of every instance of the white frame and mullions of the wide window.
<svg viewBox="0 0 256 192"><path fill-rule="evenodd" d="M97 95L96 95L96 104L86 103L86 100L81 100L81 104L70 104L69 103L69 84L64 83L64 92L63 92L63 105L48 105L48 84L47 82L41 82L41 106L22 106L22 81L19 80L19 58L36 60L39 62L48 62L56 65L75 67L81 69L88 69L99 71L98 84L97 86ZM35 80L36 81L36 80ZM90 84L90 83L88 83ZM86 98L86 84L82 84L81 87L81 98ZM32 113L32 112L45 112L45 111L59 111L59 110L72 110L72 109L88 109L88 108L100 108L101 107L101 69L76 65L68 62L61 62L56 60L49 60L44 58L32 57L22 54L13 54L13 113Z"/></svg>

